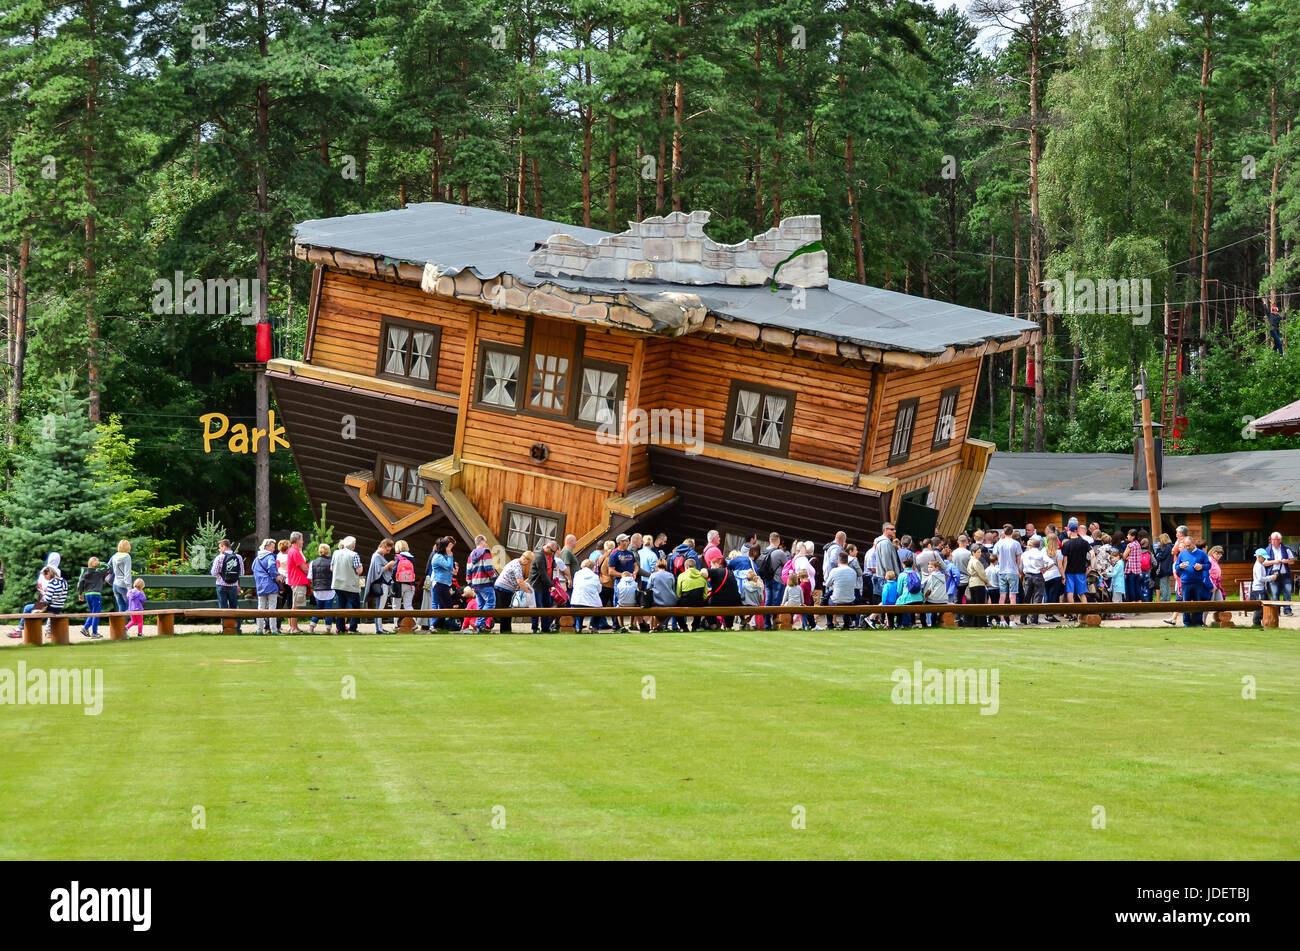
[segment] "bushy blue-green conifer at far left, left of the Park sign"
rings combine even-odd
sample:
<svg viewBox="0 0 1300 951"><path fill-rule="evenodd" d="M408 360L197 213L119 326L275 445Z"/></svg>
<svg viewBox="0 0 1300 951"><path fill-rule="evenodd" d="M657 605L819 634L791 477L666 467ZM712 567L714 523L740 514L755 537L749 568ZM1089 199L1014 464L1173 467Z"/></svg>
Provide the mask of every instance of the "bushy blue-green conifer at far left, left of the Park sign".
<svg viewBox="0 0 1300 951"><path fill-rule="evenodd" d="M64 382L36 422L30 446L17 453L13 488L4 498L0 556L9 585L0 607L5 611L31 599L49 552L60 552L64 576L75 582L91 555L107 560L126 534L129 526L113 507L118 486L95 461L96 443L87 401Z"/></svg>

